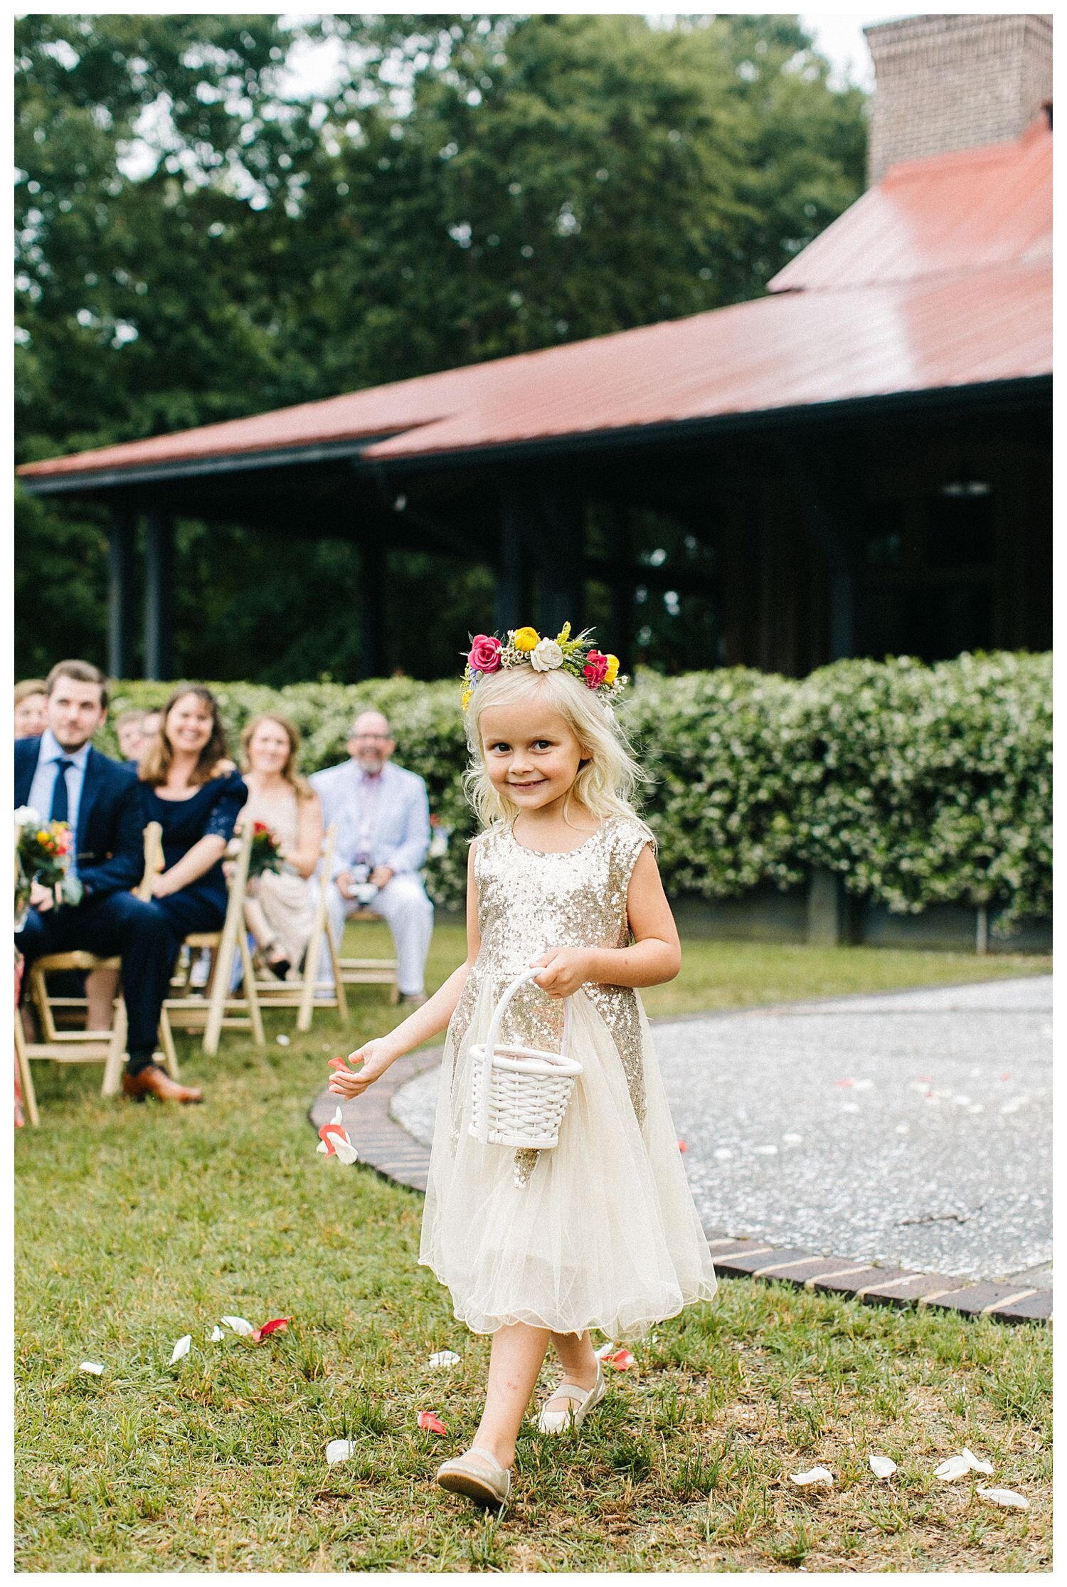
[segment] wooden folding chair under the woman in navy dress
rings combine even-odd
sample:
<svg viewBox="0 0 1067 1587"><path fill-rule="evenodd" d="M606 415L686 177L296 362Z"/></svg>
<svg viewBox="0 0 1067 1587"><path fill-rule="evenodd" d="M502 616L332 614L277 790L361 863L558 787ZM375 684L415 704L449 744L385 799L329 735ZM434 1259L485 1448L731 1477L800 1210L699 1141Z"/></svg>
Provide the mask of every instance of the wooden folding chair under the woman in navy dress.
<svg viewBox="0 0 1067 1587"><path fill-rule="evenodd" d="M190 932L185 946L197 954L201 947L211 951L211 978L208 979L205 997L168 997L160 1009L160 1044L168 1057L176 1059L174 1032L171 1014L181 1014L182 1028L198 1030L203 1024L203 1049L214 1057L219 1051L222 1030L250 1030L252 1041L262 1047L263 1017L260 1014L260 998L255 986L255 970L249 952L247 933L244 930L244 893L249 884L249 857L252 854L252 822L246 822L241 847L233 862L233 878L230 881L230 898L227 917L220 932ZM230 974L233 955L241 955L241 995L230 993Z"/></svg>

